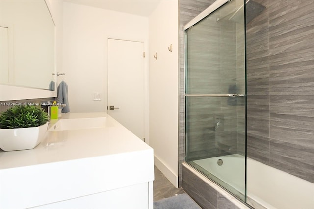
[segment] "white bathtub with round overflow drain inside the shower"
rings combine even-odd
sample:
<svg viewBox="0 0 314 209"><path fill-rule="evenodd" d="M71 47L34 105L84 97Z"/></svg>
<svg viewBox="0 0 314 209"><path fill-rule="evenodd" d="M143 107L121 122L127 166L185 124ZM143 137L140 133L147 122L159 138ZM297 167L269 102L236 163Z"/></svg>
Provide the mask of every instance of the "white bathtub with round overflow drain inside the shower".
<svg viewBox="0 0 314 209"><path fill-rule="evenodd" d="M194 160L191 164L210 171L243 196L245 157L233 154ZM314 209L314 183L250 158L247 158L246 181L247 203L256 209Z"/></svg>

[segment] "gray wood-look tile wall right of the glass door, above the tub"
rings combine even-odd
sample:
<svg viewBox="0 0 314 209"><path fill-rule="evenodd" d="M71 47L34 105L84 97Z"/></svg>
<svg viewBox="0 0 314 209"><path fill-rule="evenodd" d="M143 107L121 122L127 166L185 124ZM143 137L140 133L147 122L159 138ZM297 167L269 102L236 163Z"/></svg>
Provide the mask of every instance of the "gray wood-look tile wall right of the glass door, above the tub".
<svg viewBox="0 0 314 209"><path fill-rule="evenodd" d="M248 157L314 183L314 0L255 1L266 9L247 25Z"/></svg>

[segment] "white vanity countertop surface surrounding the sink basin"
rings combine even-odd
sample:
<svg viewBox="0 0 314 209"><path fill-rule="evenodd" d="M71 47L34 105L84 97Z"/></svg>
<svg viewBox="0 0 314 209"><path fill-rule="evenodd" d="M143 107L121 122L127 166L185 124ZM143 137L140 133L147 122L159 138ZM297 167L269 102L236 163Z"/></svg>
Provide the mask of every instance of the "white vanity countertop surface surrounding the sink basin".
<svg viewBox="0 0 314 209"><path fill-rule="evenodd" d="M106 117L105 127L51 131L31 150L0 151L0 169L152 149L104 112L67 113L60 119ZM50 127L57 120L51 120Z"/></svg>

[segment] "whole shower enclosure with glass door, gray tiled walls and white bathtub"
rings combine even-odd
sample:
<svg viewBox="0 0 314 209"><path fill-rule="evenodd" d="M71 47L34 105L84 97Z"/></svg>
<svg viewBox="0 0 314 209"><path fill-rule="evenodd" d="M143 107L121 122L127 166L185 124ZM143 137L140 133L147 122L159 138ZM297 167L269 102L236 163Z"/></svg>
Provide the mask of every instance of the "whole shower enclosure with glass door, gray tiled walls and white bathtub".
<svg viewBox="0 0 314 209"><path fill-rule="evenodd" d="M185 25L183 188L202 207L205 175L256 209L314 209L313 11L216 0Z"/></svg>

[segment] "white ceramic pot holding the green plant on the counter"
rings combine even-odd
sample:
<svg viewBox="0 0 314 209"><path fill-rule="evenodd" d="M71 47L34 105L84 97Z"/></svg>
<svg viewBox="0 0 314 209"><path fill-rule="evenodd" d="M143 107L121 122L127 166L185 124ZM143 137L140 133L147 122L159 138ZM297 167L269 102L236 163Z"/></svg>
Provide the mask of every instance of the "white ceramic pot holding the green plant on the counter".
<svg viewBox="0 0 314 209"><path fill-rule="evenodd" d="M4 151L35 148L46 135L48 123L30 128L0 129L0 148Z"/></svg>

